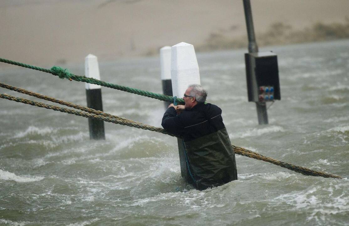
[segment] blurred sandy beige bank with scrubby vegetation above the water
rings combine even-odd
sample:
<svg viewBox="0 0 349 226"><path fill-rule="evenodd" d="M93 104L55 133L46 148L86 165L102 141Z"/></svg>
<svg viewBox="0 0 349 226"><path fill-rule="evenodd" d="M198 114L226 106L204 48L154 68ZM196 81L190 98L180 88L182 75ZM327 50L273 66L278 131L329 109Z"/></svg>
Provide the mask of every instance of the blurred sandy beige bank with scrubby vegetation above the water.
<svg viewBox="0 0 349 226"><path fill-rule="evenodd" d="M348 0L251 0L259 46L349 38ZM240 0L2 0L1 57L35 65L247 48ZM0 67L4 67L0 64Z"/></svg>

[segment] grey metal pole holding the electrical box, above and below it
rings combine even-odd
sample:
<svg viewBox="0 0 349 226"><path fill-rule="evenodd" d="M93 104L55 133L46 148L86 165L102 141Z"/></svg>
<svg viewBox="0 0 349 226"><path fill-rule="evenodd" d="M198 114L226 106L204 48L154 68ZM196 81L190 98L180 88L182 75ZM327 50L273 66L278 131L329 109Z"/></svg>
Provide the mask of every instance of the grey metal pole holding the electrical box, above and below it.
<svg viewBox="0 0 349 226"><path fill-rule="evenodd" d="M258 52L258 46L256 38L254 35L253 19L252 19L252 10L250 0L243 0L245 19L246 19L246 28L247 28L247 37L248 37L248 52ZM253 69L254 70L254 69ZM265 102L255 102L257 109L257 117L259 125L268 124L268 113Z"/></svg>

